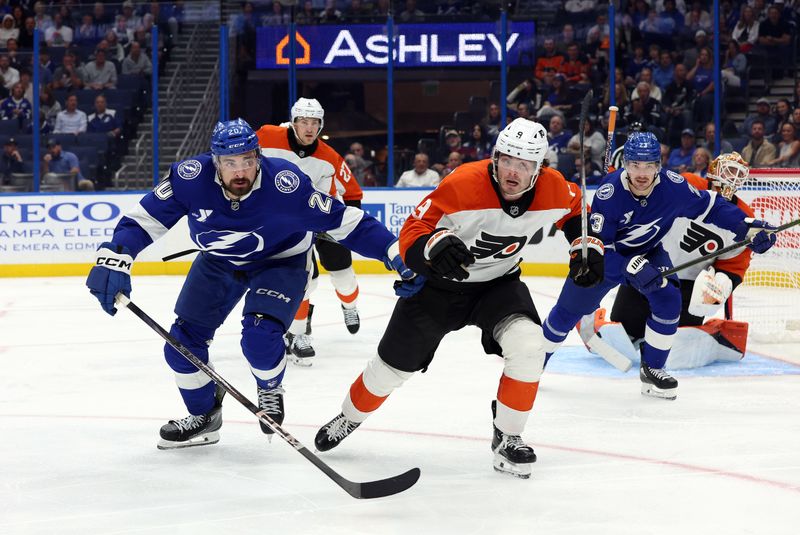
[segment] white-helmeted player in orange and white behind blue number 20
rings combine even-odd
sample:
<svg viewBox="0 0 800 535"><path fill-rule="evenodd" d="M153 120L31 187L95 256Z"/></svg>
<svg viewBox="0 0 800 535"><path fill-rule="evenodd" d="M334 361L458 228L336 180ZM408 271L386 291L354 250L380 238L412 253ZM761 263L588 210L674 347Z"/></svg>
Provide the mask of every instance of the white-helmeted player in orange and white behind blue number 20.
<svg viewBox="0 0 800 535"><path fill-rule="evenodd" d="M314 187L344 202L361 207L364 194L344 159L327 143L319 139L325 125L325 110L316 99L300 98L292 106L291 122L280 126L264 125L258 129L258 140L264 156L288 160L303 170ZM318 240L316 255L328 270L339 298L344 323L351 334L358 332L358 282L353 271L350 251L337 243ZM298 309L287 337L287 355L292 362L310 366L316 351L311 344L311 316L314 305L310 298L317 287L319 269L316 258L314 276Z"/></svg>

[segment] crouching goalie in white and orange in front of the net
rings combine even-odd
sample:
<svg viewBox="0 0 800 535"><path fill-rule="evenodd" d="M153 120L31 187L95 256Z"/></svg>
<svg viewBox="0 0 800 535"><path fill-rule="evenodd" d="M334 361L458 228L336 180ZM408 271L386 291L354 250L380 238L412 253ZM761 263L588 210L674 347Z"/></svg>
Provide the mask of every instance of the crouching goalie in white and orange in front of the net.
<svg viewBox="0 0 800 535"><path fill-rule="evenodd" d="M682 176L698 189L717 192L753 217L751 208L736 197L749 170L747 162L733 152L721 154L711 162L707 179L692 173ZM663 245L672 263L679 265L728 247L734 239L732 232L713 223L679 217L664 237ZM680 328L665 364L667 368L696 368L718 360L738 361L744 356L748 326L731 319L729 297L744 279L751 256L749 248L737 249L678 273L682 297ZM723 307L725 319L714 318L704 323L704 318L713 318ZM611 321L605 321L605 309L598 309L581 319L579 332L584 342L597 333L611 350L638 361L637 346L644 339L649 314L647 299L630 286L622 285L617 290Z"/></svg>

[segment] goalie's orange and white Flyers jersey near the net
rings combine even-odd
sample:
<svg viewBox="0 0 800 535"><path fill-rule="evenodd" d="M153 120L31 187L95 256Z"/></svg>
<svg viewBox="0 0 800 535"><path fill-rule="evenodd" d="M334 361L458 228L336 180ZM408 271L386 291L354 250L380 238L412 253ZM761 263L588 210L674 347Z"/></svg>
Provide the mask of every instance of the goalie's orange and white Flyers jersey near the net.
<svg viewBox="0 0 800 535"><path fill-rule="evenodd" d="M706 179L693 173L682 173L682 175L697 189L708 189L708 181ZM754 217L753 210L744 201L738 197L735 199L736 206L747 214L747 217ZM679 217L675 219L672 228L661 243L669 253L672 264L677 266L714 253L735 242L735 235L730 230L700 219ZM707 262L695 264L679 272L678 276L683 280L695 280L701 271L713 265L716 271L732 273L743 279L747 268L750 266L751 256L752 251L748 247L744 247Z"/></svg>

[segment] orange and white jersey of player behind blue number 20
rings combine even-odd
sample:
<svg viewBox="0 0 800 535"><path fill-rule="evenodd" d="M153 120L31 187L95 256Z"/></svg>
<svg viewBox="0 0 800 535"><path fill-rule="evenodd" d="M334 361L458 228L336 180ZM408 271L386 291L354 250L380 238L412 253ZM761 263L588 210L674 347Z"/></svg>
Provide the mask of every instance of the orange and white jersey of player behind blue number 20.
<svg viewBox="0 0 800 535"><path fill-rule="evenodd" d="M304 150L306 147L293 143L294 139L290 141L289 136L293 133L289 128L269 124L259 128L256 134L261 154L292 162L311 178L315 188L332 197L345 201L358 201L364 197L361 186L338 152L321 139L307 147L311 151L308 152Z"/></svg>

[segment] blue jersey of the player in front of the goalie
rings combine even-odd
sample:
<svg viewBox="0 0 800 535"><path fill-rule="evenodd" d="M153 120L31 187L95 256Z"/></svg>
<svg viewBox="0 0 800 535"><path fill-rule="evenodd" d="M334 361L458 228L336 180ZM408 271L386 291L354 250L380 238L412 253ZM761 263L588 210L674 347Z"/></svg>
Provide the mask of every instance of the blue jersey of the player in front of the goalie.
<svg viewBox="0 0 800 535"><path fill-rule="evenodd" d="M661 170L650 194L635 196L620 169L609 173L595 192L590 224L607 249L630 258L655 248L679 217L738 233L746 216L733 203L713 191L698 190L673 171Z"/></svg>

